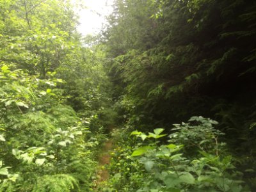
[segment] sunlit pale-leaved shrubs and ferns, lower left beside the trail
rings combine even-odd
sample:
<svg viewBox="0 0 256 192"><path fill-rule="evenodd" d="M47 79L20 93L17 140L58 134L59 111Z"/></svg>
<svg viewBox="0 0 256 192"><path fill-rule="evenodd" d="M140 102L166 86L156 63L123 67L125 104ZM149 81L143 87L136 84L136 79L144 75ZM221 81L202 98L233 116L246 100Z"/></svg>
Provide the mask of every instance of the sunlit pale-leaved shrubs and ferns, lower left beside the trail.
<svg viewBox="0 0 256 192"><path fill-rule="evenodd" d="M1 157L8 166L1 168L1 191L88 191L95 168L86 143L90 122L81 121L63 104L65 97L54 93L58 79L6 70L2 67Z"/></svg>

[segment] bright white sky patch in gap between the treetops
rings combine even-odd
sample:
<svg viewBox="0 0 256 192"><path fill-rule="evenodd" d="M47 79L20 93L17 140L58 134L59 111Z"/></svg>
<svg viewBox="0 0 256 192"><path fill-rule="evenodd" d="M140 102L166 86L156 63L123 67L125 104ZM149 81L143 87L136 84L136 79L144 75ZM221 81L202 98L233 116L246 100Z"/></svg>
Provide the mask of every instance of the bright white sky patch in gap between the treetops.
<svg viewBox="0 0 256 192"><path fill-rule="evenodd" d="M99 33L102 24L106 22L106 17L109 15L113 8L113 0L81 0L87 7L79 11L79 22L81 23L78 27L78 31L84 36L88 34Z"/></svg>

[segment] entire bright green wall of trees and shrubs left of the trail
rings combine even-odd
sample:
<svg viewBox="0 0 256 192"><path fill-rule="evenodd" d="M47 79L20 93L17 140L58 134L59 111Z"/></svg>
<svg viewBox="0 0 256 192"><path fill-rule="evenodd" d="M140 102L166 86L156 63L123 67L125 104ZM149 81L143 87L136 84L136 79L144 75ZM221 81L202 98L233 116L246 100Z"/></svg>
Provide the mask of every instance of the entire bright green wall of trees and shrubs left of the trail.
<svg viewBox="0 0 256 192"><path fill-rule="evenodd" d="M89 130L111 104L102 48L76 25L70 1L0 1L0 191L91 190Z"/></svg>

